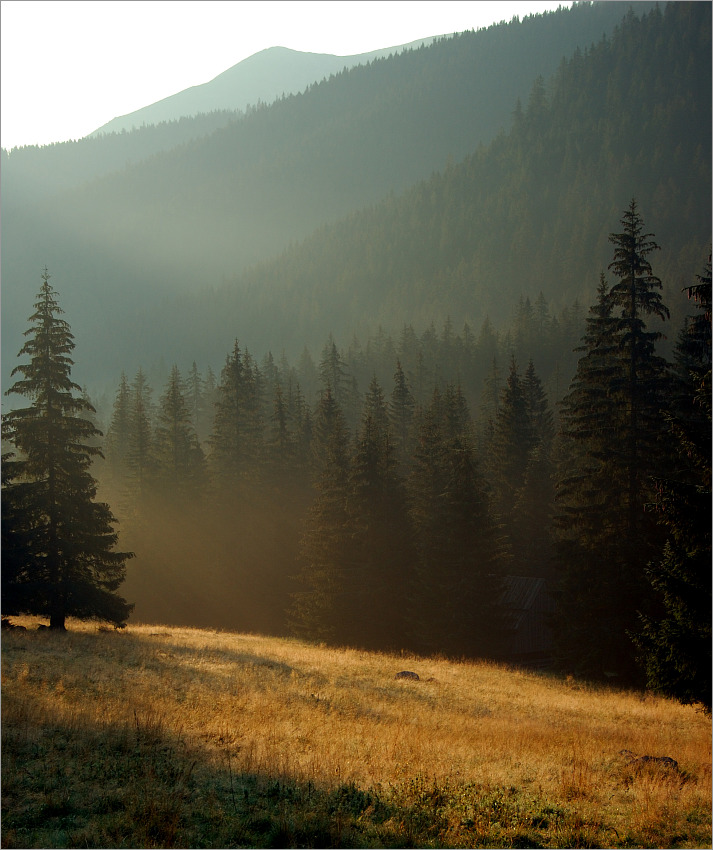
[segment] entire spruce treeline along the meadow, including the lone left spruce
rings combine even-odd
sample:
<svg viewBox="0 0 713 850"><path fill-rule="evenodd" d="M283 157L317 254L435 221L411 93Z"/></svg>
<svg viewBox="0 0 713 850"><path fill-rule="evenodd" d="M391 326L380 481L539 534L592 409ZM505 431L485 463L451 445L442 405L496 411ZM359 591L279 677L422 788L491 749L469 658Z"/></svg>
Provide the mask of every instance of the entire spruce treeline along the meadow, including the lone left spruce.
<svg viewBox="0 0 713 850"><path fill-rule="evenodd" d="M397 348L374 338L375 362L396 357L388 385L374 370L366 390L332 338L311 367L307 353L258 365L236 342L218 377L174 367L158 403L141 370L122 376L98 471L123 552L95 501L101 433L75 395L45 270L20 351L30 362L8 391L32 403L3 417L3 614L121 625L135 551L140 617L507 659L505 588L524 574L549 579L562 669L710 710L710 255L669 361L659 246L635 200L621 226L557 419L509 335L504 382L485 373L474 416L446 369L488 335L448 323L406 328ZM518 320L539 313L546 338L562 323L537 303ZM314 402L300 384L310 368Z"/></svg>

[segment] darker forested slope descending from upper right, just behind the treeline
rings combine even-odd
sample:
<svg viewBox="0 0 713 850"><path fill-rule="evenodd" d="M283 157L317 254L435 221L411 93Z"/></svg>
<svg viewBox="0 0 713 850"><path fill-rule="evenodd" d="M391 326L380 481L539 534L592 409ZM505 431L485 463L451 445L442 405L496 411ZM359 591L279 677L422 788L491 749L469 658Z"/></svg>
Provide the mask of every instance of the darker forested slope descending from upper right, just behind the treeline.
<svg viewBox="0 0 713 850"><path fill-rule="evenodd" d="M689 311L681 288L711 234L710 16L699 3L630 15L611 39L562 62L548 85L536 82L508 134L209 301L166 303L166 330L211 360L210 333L296 353L329 332L346 343L378 324L500 324L520 295L543 292L556 310L590 304L610 261L608 235L633 196L662 246L655 268L680 320Z"/></svg>

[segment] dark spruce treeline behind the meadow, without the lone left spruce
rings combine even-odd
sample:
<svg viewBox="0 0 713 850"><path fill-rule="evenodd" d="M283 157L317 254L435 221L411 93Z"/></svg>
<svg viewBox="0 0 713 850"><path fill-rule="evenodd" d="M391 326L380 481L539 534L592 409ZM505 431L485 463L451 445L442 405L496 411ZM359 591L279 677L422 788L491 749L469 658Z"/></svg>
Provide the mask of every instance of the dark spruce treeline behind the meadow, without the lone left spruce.
<svg viewBox="0 0 713 850"><path fill-rule="evenodd" d="M269 609L269 628L312 639L507 658L503 580L529 575L556 598L563 668L637 682L666 655L709 669L710 267L695 290L708 318L668 362L649 327L669 318L658 245L635 202L622 225L560 404L559 361L543 373L523 353L561 343L582 311L554 320L542 297L505 334L407 327L346 353L330 337L316 365L258 364L236 342L218 377L174 367L157 405L141 371L122 377L107 464L130 545L157 517L190 523L196 563L222 541L211 593L262 599L248 627ZM183 593L189 575L174 576Z"/></svg>

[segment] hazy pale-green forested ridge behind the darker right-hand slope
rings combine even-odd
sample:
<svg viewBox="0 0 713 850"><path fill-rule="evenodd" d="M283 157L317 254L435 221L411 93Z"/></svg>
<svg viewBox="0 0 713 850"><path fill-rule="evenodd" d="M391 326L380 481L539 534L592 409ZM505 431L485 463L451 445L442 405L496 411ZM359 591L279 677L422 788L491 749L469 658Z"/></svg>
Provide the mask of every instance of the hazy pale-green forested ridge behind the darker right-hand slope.
<svg viewBox="0 0 713 850"><path fill-rule="evenodd" d="M90 379L106 374L117 359L128 367L135 358L178 358L186 324L192 333L206 329L196 353L209 355L219 331L208 288L389 191L403 191L449 157L457 162L489 143L511 124L517 98L527 98L538 74L549 76L563 55L598 40L626 8L576 6L441 39L340 73L53 197L14 191L18 153L3 154L5 363L21 344L21 323L45 264L77 331L78 358L82 350L92 352ZM172 127L139 132L148 138ZM186 138L198 132L190 124L184 128ZM95 144L100 157L103 145L123 138L86 143ZM67 157L75 150L68 146ZM57 167L63 170L61 162ZM177 290L200 293L198 314L191 304L190 316L169 318ZM228 324L229 337L241 333L239 317ZM221 338L219 350L225 344ZM280 341L269 335L255 345L259 350Z"/></svg>

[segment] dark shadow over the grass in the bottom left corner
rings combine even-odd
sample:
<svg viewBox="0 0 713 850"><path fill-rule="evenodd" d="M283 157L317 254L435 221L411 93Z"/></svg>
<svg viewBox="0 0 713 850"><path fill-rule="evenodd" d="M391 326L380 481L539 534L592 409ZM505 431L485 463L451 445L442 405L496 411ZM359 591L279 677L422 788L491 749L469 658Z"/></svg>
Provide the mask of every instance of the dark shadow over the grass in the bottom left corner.
<svg viewBox="0 0 713 850"><path fill-rule="evenodd" d="M393 807L355 786L216 770L139 717L56 723L15 696L3 715L3 847L405 846Z"/></svg>

